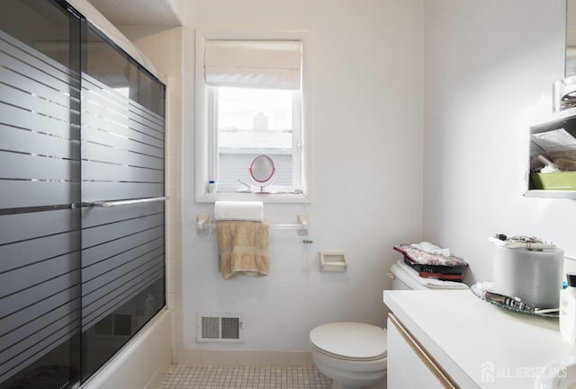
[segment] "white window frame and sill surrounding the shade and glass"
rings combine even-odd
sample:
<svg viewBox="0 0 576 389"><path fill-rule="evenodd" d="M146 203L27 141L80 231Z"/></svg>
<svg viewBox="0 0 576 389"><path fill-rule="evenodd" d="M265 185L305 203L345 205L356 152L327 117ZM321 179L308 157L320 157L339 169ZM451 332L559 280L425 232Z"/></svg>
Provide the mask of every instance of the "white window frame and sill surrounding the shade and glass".
<svg viewBox="0 0 576 389"><path fill-rule="evenodd" d="M195 31L195 199L196 202L211 203L216 200L258 200L265 203L310 203L311 202L311 55L310 31L236 31L236 30L197 30ZM214 129L216 114L210 104L211 88L204 80L203 58L205 40L300 40L302 42L302 116L300 142L294 145L293 155L300 155L300 176L302 193L208 193L211 172L217 166L218 146Z"/></svg>

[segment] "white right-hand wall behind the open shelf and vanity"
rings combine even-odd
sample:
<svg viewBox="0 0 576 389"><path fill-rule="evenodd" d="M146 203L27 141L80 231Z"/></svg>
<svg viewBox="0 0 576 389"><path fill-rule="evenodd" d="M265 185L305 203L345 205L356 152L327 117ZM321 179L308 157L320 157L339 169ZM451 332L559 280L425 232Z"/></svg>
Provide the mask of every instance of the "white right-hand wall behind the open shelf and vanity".
<svg viewBox="0 0 576 389"><path fill-rule="evenodd" d="M491 234L576 252L576 201L527 199L529 126L563 77L565 0L426 0L424 237L491 280Z"/></svg>

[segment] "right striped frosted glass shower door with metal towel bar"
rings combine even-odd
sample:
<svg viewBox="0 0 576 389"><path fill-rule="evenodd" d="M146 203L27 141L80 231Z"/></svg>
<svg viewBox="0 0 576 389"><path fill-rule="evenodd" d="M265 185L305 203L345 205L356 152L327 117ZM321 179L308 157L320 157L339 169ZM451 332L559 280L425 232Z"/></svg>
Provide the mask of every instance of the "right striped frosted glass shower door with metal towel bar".
<svg viewBox="0 0 576 389"><path fill-rule="evenodd" d="M165 305L165 90L89 23L84 32L82 346L90 376Z"/></svg>

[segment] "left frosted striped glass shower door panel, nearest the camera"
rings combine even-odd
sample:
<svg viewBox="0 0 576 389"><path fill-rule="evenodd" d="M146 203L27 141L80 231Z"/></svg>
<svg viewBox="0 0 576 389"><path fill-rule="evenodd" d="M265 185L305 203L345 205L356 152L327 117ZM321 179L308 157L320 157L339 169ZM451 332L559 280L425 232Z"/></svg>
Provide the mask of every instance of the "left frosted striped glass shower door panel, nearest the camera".
<svg viewBox="0 0 576 389"><path fill-rule="evenodd" d="M0 13L0 388L80 379L80 21Z"/></svg>

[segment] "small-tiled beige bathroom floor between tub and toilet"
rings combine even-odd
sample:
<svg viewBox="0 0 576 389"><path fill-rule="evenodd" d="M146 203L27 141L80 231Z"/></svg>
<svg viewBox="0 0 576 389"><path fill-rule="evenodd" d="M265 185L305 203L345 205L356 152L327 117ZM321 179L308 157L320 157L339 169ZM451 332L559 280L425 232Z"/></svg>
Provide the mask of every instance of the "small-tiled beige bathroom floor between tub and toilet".
<svg viewBox="0 0 576 389"><path fill-rule="evenodd" d="M316 367L171 367L159 389L329 389Z"/></svg>

